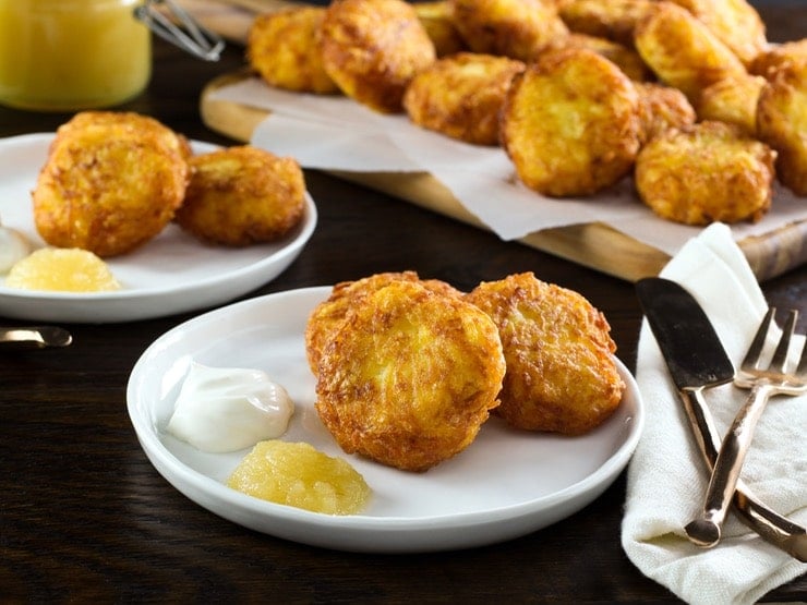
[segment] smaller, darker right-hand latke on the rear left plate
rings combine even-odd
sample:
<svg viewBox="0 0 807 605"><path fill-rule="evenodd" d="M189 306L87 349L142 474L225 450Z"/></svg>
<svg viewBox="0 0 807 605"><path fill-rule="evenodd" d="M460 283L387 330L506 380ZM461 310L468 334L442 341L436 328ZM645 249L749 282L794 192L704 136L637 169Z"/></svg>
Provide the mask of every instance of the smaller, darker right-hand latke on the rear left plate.
<svg viewBox="0 0 807 605"><path fill-rule="evenodd" d="M302 219L305 180L292 158L243 145L195 156L191 167L176 219L201 240L229 246L270 242Z"/></svg>

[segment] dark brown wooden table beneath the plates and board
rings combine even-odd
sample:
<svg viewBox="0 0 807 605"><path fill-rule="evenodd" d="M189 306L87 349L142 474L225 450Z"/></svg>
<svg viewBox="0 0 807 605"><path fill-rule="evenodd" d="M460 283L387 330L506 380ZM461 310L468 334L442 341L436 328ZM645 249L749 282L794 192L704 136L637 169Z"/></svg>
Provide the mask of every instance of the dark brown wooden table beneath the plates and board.
<svg viewBox="0 0 807 605"><path fill-rule="evenodd" d="M807 33L806 14L763 11L774 40ZM231 143L205 129L197 101L205 83L241 62L236 47L210 64L157 41L150 86L123 108L192 138ZM52 131L68 118L0 109L0 135ZM288 270L250 297L408 268L466 289L533 270L600 307L617 354L635 367L640 311L630 283L326 174L306 177L321 215L316 233ZM807 269L763 288L772 303L807 314ZM127 414L132 365L190 316L67 325L68 349L0 353L0 602L676 601L619 546L624 474L555 525L442 554L330 552L207 512L154 470ZM807 579L766 600L805 601Z"/></svg>

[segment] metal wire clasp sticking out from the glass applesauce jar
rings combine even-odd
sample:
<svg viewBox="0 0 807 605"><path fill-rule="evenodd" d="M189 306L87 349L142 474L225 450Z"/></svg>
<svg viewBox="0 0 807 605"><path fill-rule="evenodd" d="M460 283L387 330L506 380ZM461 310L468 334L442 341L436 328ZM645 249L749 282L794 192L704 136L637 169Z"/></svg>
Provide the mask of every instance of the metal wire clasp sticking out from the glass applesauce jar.
<svg viewBox="0 0 807 605"><path fill-rule="evenodd" d="M134 16L160 38L205 61L218 61L225 40L200 25L171 0L146 0L134 9Z"/></svg>

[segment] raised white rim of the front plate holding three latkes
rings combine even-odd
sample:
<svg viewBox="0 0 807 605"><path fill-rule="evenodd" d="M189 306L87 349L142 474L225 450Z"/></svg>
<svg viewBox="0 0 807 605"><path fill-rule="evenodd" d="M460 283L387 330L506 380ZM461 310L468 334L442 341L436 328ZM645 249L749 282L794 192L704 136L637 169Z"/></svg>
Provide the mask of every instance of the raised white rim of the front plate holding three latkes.
<svg viewBox="0 0 807 605"><path fill-rule="evenodd" d="M563 511L557 519L550 521L549 523L538 524L530 530L534 531L546 527L547 524L557 522L557 520L568 517L583 506L590 504L613 483L618 473L627 465L643 432L643 424L646 422L647 414L641 400L641 394L638 390L635 378L624 363L616 356L613 359L615 360L623 378L628 378L626 380L627 386L631 389L635 403L635 409L629 416L631 426L627 429L619 445L615 447L614 451L602 462L601 465L575 483L538 498L507 506L499 506L490 510L463 511L454 515L421 516L415 518L368 515L339 517L322 515L261 500L245 494L240 494L179 460L159 438L159 431L154 424L154 419L152 419L152 423L149 425L144 426L143 422L145 419L142 419L135 408L140 402L140 386L145 379L146 373L144 372L144 368L147 367L148 362L154 355L165 353L172 344L176 344L178 340L181 340L184 334L195 329L198 324L207 324L215 320L217 315L229 315L232 317L239 312L243 313L249 307L261 307L267 303L270 304L280 300L281 298L293 299L297 297L305 297L306 301L309 298L324 300L327 298L330 290L330 286L282 290L219 307L203 315L193 317L169 329L149 344L135 362L127 386L127 407L130 421L135 429L138 443L158 473L162 475L162 477L176 489L189 497L196 505L202 506L218 517L256 530L261 533L315 546L324 546L340 550L375 553L444 550L456 547L471 547L502 542L503 540L521 535L525 532L517 531L510 535L506 535L506 532L496 532L498 537L485 537L485 535L482 534L479 536L479 540L474 540L473 536L469 535L449 536L450 539L454 539L454 541L451 542L449 540L445 546L441 546L434 544L434 541L430 537L430 535L437 529L438 531L437 533L434 533L434 535L443 535L446 534L446 532L451 533L456 530L467 530L469 528L479 529L503 523L503 519L498 518L499 515L491 515L493 511L496 513L505 512L506 515L504 517L506 520L515 522L526 517L530 517L531 515L535 515L537 512L552 511L553 509L563 507L568 503L575 503L569 509ZM180 480L178 480L177 476L173 476L174 474L179 475L180 479L184 477L183 485L180 486L177 484ZM189 485L191 485L191 487L189 487ZM202 495L198 492L206 492L206 494ZM200 501L200 499L205 500L204 504ZM261 518L270 517L273 522L279 521L288 523L289 527L286 528L287 531L279 531L278 528L275 528L274 531L269 531L263 527L262 523L254 523L249 522L249 520L244 520L244 515L236 515L237 511L231 511L230 515L222 513L222 511L218 509L218 506L225 503L229 506L238 507L243 511L248 511L251 515L260 516ZM299 530L301 528L303 530L328 529L332 535L308 535L308 539L301 539L299 535ZM335 530L336 533L334 534ZM368 532L372 532L373 536L382 543L384 542L382 537L385 535L387 537L392 537L393 542L371 547L368 544L363 544L363 541L360 540L360 534L363 535ZM463 531L462 533L470 534L473 532ZM415 535L415 540L405 539L402 541L399 537L395 537L406 534L429 535ZM357 537L359 537L359 540L357 540Z"/></svg>

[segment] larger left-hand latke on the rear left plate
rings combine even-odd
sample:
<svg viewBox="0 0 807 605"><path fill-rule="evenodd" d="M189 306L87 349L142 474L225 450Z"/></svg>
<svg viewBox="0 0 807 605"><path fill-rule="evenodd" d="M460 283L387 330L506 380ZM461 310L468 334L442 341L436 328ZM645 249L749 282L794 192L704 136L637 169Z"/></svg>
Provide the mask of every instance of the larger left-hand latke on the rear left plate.
<svg viewBox="0 0 807 605"><path fill-rule="evenodd" d="M182 203L188 142L130 112L83 112L57 130L33 192L34 221L58 247L101 257L157 235Z"/></svg>

